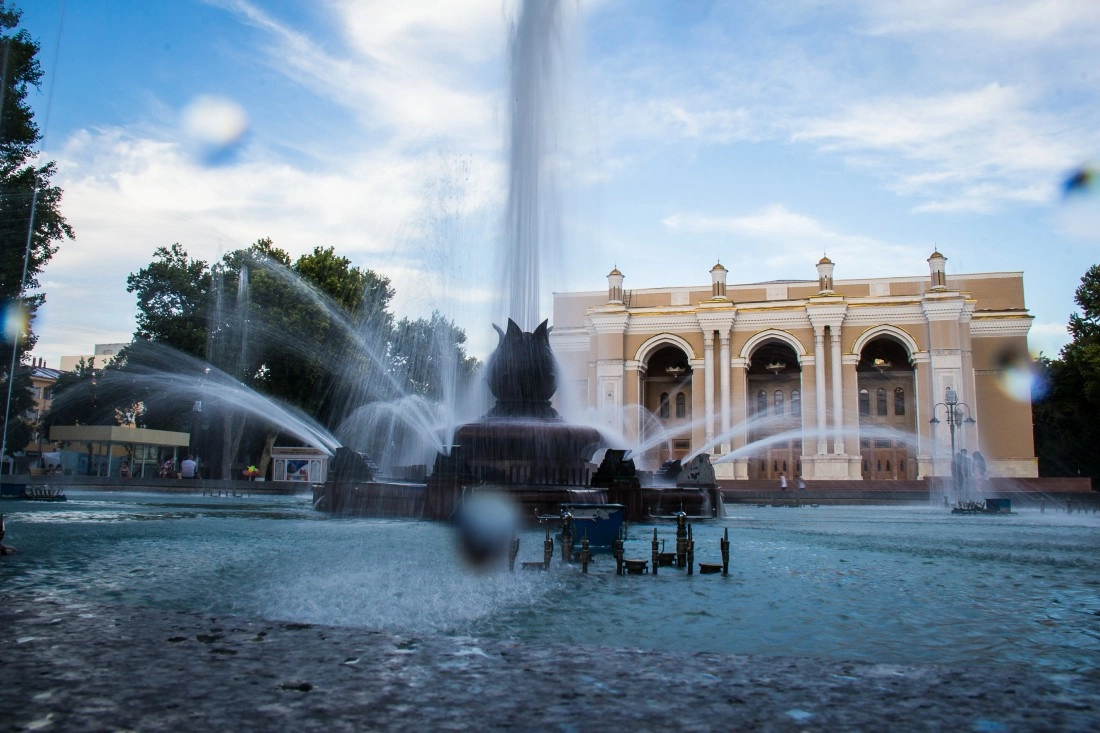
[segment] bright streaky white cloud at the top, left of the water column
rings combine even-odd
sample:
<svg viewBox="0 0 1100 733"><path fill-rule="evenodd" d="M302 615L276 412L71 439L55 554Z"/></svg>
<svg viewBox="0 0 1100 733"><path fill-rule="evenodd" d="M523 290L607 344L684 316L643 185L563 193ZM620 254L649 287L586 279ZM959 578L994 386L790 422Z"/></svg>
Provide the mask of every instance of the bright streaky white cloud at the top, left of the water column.
<svg viewBox="0 0 1100 733"><path fill-rule="evenodd" d="M333 2L346 50L323 47L248 0L224 4L266 36L273 70L353 111L366 129L386 130L391 144L499 143L496 89L477 75L504 46L493 3Z"/></svg>

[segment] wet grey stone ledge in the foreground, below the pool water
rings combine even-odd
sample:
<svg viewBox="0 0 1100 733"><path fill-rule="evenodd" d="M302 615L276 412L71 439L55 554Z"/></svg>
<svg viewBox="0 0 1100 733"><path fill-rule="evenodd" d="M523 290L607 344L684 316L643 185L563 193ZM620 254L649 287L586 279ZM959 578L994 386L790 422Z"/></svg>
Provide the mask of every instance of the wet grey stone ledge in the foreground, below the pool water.
<svg viewBox="0 0 1100 733"><path fill-rule="evenodd" d="M576 648L0 593L0 731L1097 731L1100 671Z"/></svg>

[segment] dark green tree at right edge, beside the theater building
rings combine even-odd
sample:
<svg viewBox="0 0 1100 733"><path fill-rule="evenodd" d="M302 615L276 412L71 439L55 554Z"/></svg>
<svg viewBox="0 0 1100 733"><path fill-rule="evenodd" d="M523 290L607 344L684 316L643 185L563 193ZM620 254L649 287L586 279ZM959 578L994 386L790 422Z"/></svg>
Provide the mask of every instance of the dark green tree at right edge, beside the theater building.
<svg viewBox="0 0 1100 733"><path fill-rule="evenodd" d="M1033 394L1035 452L1041 475L1088 475L1100 485L1100 265L1081 277L1058 359L1040 357Z"/></svg>

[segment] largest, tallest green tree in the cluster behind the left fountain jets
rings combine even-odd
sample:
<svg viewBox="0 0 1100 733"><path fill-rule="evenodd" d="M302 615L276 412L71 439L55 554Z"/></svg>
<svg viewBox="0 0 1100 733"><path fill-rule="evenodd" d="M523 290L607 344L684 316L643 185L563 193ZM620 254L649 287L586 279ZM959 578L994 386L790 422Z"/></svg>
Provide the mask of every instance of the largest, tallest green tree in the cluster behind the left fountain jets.
<svg viewBox="0 0 1100 733"><path fill-rule="evenodd" d="M215 267L210 361L249 387L332 425L354 404L370 368L364 347L384 344L393 289L385 276L352 266L333 248L315 248L292 264L271 239L227 254ZM238 455L264 467L277 426L226 412L223 472ZM209 464L209 461L208 461Z"/></svg>

